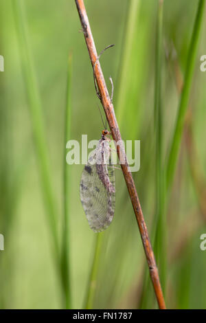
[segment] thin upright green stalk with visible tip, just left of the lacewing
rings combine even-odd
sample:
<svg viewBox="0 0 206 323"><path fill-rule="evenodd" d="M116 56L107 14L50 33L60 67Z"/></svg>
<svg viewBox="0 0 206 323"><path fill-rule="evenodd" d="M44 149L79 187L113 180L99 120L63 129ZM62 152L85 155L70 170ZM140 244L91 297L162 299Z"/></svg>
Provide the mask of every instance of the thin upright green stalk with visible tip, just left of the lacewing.
<svg viewBox="0 0 206 323"><path fill-rule="evenodd" d="M65 308L71 309L71 283L69 267L69 209L71 203L71 167L65 161L67 141L71 139L71 55L68 60L67 94L65 107L65 142L63 154L64 226L62 228L62 286L65 290Z"/></svg>

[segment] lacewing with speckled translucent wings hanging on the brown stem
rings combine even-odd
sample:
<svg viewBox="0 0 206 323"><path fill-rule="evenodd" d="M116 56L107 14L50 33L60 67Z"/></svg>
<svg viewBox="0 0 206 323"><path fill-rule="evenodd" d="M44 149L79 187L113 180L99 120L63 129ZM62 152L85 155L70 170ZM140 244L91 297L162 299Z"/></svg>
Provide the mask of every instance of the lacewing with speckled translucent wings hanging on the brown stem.
<svg viewBox="0 0 206 323"><path fill-rule="evenodd" d="M115 212L115 170L111 164L109 134L107 130L102 131L102 138L84 166L80 181L80 199L94 232L106 230Z"/></svg>

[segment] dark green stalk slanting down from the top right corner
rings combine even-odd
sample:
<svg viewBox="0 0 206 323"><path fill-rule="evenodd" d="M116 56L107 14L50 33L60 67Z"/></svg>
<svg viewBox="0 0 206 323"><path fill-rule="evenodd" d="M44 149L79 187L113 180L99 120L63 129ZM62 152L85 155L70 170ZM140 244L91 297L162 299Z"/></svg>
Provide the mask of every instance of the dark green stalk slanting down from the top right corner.
<svg viewBox="0 0 206 323"><path fill-rule="evenodd" d="M183 91L181 94L179 111L176 116L176 125L174 128L174 135L172 137L172 142L170 145L170 152L168 157L167 174L166 174L166 186L168 189L172 185L172 179L174 177L176 160L179 154L179 146L181 144L181 137L183 134L185 113L187 111L187 106L190 99L190 89L192 87L192 78L194 75L196 54L197 54L198 43L199 43L199 38L201 34L201 26L203 23L204 8L205 8L205 0L199 0L198 10L196 12L196 19L194 22L194 28L192 31L192 38L190 41L190 47L188 49L188 54L187 54L187 63L185 67Z"/></svg>

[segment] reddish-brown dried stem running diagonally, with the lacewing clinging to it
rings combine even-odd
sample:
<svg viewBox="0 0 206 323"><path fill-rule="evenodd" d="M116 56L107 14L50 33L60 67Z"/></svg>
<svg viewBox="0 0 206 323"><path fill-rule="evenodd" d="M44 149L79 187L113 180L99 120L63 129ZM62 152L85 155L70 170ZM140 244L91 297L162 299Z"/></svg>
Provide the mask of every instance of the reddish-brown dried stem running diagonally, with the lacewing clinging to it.
<svg viewBox="0 0 206 323"><path fill-rule="evenodd" d="M82 30L84 33L84 39L87 44L87 49L89 52L89 56L91 59L91 64L93 67L93 72L95 76L95 80L98 85L100 98L102 102L102 106L104 108L104 112L106 114L106 119L108 121L109 128L111 129L111 135L113 136L113 140L115 142L122 142L122 136L119 131L119 126L117 124L117 120L115 117L115 111L113 104L111 102L111 98L108 95L108 89L106 87L106 82L104 80L104 75L102 73L102 69L100 66L98 58L98 54L95 48L95 43L93 41L93 34L91 32L91 27L89 25L89 19L87 16L87 12L84 6L83 0L76 0L76 6L78 10L78 14L80 16L80 22L82 25ZM94 66L95 65L95 66ZM139 232L141 234L141 241L144 246L144 252L146 254L146 259L148 261L148 268L150 271L150 278L152 280L152 284L155 290L155 296L157 298L157 302L159 304L160 309L165 309L165 301L163 298L163 293L161 290L161 284L159 280L159 274L157 265L155 262L155 256L152 250L152 245L150 243L150 239L148 236L148 229L146 227L146 223L144 221L144 215L141 210L141 205L139 203L139 197L137 195L137 190L135 188L135 182L133 180L133 176L130 172L130 168L128 166L128 161L126 158L126 153L124 150L124 146L117 146L117 155L119 159L124 160L124 164L121 164L122 173L124 175L124 179L126 181L126 186L128 188L128 194L130 195L131 202L133 204L133 210L135 213L135 217L137 220L137 225L139 227Z"/></svg>

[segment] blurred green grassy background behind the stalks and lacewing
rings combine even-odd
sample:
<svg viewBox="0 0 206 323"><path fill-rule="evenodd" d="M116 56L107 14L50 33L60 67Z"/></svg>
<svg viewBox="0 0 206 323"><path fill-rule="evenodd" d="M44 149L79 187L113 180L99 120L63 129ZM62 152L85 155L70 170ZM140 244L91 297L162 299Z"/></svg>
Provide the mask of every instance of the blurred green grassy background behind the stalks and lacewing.
<svg viewBox="0 0 206 323"><path fill-rule="evenodd" d="M124 140L141 140L141 168L133 175L152 245L155 245L166 304L175 309L206 308L206 252L199 247L200 236L206 232L206 73L200 71L200 57L206 54L205 12L190 90L190 113L185 118L174 181L162 213L161 232L157 233L155 160L158 156L155 155L154 92L158 3L156 0L85 0L98 53L115 43L115 47L101 57L101 65L109 89L108 78L113 78L113 102L122 137ZM176 82L187 69L187 53L198 3L197 0L165 0L163 5L160 68L163 164L168 159L179 107L180 93ZM5 60L5 71L0 73L0 233L5 238L5 250L0 251L0 307L57 309L65 307L65 296L56 269L58 262L43 197L44 176L34 140L34 119L38 118L38 113L35 103L33 109L30 107L31 93L38 91L41 101L37 106L41 107L43 117L49 177L56 205L55 230L60 246L64 230L63 178L67 153L64 137L69 54L72 58L69 65L71 133L68 140L81 140L82 134L88 134L88 140L100 139L102 121L97 108L98 98L75 1L0 0L0 9L0 54ZM25 17L23 30L21 12ZM36 83L31 85L27 79L27 76L32 78L30 67L26 71L29 62L25 54L26 43L30 47L30 62L36 76ZM79 183L83 166L67 167L67 256L71 290L68 307L81 309L96 236L89 229L80 203ZM133 208L119 171L116 171L116 182L115 217L102 236L93 308L157 308ZM69 271L66 273L69 275Z"/></svg>

